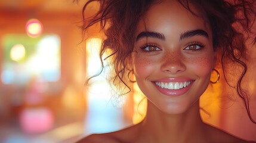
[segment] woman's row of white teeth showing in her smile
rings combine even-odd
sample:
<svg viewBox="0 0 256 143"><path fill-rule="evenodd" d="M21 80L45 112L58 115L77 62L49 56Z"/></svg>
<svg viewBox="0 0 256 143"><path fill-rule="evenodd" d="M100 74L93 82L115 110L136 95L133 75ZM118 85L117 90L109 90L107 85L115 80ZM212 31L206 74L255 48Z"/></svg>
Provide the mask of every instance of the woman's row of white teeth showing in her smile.
<svg viewBox="0 0 256 143"><path fill-rule="evenodd" d="M165 88L165 89L181 89L181 88L186 88L187 86L192 83L192 81L188 82L155 82L157 86L160 88Z"/></svg>

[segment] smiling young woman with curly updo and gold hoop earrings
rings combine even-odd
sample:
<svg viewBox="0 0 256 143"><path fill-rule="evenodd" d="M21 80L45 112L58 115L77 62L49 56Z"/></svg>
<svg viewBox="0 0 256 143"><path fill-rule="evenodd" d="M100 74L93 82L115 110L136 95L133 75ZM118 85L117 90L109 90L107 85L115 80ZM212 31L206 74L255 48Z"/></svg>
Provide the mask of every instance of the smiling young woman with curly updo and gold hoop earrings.
<svg viewBox="0 0 256 143"><path fill-rule="evenodd" d="M100 10L92 19L84 19L82 28L100 21L106 35L100 56L110 53L108 58L114 61L110 82L129 87L127 75L134 73L148 100L147 114L137 125L79 142L247 142L203 123L199 98L218 57L223 66L238 63L243 72L236 88L251 117L240 83L246 71L245 42L255 38L251 31L254 1L99 2Z"/></svg>

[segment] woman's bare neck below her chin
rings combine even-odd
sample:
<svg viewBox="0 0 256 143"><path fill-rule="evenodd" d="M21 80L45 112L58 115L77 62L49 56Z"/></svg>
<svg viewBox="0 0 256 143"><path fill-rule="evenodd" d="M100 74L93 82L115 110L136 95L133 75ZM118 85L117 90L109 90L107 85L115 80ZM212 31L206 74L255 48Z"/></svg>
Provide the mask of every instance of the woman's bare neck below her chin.
<svg viewBox="0 0 256 143"><path fill-rule="evenodd" d="M147 116L141 122L142 135L148 136L149 140L154 142L187 142L202 139L205 126L199 113L199 101L181 114L163 113L148 101Z"/></svg>

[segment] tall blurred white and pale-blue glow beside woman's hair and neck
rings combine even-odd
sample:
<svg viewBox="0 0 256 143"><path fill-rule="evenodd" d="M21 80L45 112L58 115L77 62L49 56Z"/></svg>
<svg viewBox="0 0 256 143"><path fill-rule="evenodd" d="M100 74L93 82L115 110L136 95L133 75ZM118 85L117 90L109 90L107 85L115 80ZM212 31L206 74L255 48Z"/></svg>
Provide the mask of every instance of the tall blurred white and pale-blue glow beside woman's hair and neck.
<svg viewBox="0 0 256 143"><path fill-rule="evenodd" d="M91 38L86 42L87 74L89 76L98 73L101 68L100 57L98 57L100 47L100 38ZM85 119L87 133L113 132L124 126L124 113L119 110L120 108L117 108L122 107L124 104L121 97L115 99L114 96L116 95L113 94L105 78L108 76L107 73L110 73L109 69L104 69L100 76L93 78L95 82L85 90L85 98L87 98L88 102L87 117ZM72 101L69 100L69 102Z"/></svg>

